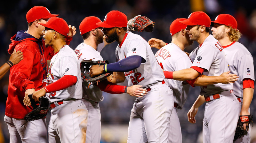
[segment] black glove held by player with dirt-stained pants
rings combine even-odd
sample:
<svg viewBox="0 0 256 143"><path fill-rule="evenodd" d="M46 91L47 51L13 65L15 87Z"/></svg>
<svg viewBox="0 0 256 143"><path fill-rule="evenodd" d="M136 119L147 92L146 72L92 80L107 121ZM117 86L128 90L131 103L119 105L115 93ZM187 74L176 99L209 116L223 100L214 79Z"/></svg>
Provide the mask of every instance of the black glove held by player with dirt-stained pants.
<svg viewBox="0 0 256 143"><path fill-rule="evenodd" d="M47 115L50 109L49 100L45 97L40 97L39 98L40 102L36 102L32 98L32 94L29 94L28 97L30 99L33 110L24 117L24 120L33 121L33 120L43 119Z"/></svg>

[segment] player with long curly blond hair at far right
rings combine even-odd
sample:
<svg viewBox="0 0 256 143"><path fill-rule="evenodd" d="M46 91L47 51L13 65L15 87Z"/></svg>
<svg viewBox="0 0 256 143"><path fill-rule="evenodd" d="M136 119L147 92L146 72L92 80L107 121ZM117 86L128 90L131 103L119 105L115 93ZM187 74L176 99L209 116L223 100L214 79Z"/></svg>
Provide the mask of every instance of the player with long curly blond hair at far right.
<svg viewBox="0 0 256 143"><path fill-rule="evenodd" d="M231 73L239 75L234 86L234 94L240 103L240 116L250 115L250 104L254 92L254 66L251 53L237 42L241 33L237 29L236 19L229 14L220 14L212 21L212 35L223 47ZM244 124L244 130L246 125ZM235 142L250 143L250 131Z"/></svg>

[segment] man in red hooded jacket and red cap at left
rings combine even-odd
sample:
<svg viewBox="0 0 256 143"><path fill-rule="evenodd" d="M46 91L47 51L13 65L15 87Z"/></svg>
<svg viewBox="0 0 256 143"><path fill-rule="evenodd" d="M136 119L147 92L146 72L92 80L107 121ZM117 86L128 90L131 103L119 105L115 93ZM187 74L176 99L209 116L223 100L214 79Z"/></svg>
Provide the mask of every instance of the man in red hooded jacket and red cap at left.
<svg viewBox="0 0 256 143"><path fill-rule="evenodd" d="M23 105L23 98L43 87L42 81L47 75L47 60L52 58L54 51L52 48L45 48L41 38L44 26L39 23L46 23L47 19L56 16L58 15L51 14L46 7L35 6L26 15L28 30L21 30L11 38L8 52L12 54L14 50L20 50L24 59L10 68L4 116L10 142L47 142L45 119L28 123L23 120L24 116L32 111Z"/></svg>

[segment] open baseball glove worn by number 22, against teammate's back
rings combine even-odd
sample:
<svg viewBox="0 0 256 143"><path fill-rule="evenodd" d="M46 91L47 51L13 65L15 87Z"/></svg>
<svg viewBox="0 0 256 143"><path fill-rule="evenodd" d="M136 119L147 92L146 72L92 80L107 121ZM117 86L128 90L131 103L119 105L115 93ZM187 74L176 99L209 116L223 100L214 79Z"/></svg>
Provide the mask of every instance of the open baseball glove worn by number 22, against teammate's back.
<svg viewBox="0 0 256 143"><path fill-rule="evenodd" d="M108 64L108 61L92 61L92 60L82 60L80 63L80 69L81 69L81 75L84 81L86 82L100 82L100 80L107 78L110 76L113 72L104 72L101 75L98 75L94 78L90 76L89 69L92 65L103 65L103 64Z"/></svg>

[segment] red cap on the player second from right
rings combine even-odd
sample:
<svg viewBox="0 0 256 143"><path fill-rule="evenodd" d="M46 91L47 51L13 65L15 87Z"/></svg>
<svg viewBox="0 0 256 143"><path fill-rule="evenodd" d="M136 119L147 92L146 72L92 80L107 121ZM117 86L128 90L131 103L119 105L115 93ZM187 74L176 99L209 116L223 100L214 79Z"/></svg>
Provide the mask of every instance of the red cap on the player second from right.
<svg viewBox="0 0 256 143"><path fill-rule="evenodd" d="M211 26L210 17L203 11L193 12L188 16L187 20L180 21L180 22L186 25L201 25L201 26L204 25L206 27Z"/></svg>

